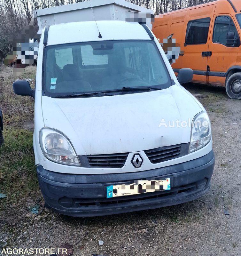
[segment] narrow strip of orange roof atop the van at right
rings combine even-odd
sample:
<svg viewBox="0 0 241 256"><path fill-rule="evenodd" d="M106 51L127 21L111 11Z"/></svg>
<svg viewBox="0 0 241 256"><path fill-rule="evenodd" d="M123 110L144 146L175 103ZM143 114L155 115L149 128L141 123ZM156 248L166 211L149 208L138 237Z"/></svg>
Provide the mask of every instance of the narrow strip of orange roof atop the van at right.
<svg viewBox="0 0 241 256"><path fill-rule="evenodd" d="M212 4L219 4L219 5L228 4L234 10L236 10L237 13L241 12L240 0L214 0L212 2L208 2L208 3L205 3L205 4L197 4L197 5L193 5L193 6L190 6L190 7L181 8L181 9L175 10L175 11L159 13L156 16L159 16L159 15L162 16L162 15L167 15L167 14L170 14L170 13L177 13L177 12L188 11L188 10L192 10L192 9L195 9L195 8L199 8L199 7L203 7L203 6L207 6L207 5L212 5Z"/></svg>

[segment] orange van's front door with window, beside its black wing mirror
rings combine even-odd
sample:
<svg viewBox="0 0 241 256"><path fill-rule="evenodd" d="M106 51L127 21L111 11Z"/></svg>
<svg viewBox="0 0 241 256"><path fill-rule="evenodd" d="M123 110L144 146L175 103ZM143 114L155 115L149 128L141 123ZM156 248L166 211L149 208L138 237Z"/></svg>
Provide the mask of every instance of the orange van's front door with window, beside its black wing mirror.
<svg viewBox="0 0 241 256"><path fill-rule="evenodd" d="M227 34L235 33L235 38L240 38L235 19L230 14L214 15L212 33L208 47L207 65L209 68L208 82L225 85L225 73L232 66L237 65L237 54L240 44L227 46Z"/></svg>

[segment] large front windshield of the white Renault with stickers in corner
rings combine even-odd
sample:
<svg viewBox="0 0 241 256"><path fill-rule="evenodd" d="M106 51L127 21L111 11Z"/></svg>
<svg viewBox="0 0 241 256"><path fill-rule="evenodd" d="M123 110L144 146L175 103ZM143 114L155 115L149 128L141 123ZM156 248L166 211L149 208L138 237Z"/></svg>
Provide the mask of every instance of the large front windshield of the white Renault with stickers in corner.
<svg viewBox="0 0 241 256"><path fill-rule="evenodd" d="M43 89L46 96L102 92L123 87L154 86L164 89L171 86L167 68L151 40L53 45L47 46L44 54ZM135 90L128 93L133 92Z"/></svg>

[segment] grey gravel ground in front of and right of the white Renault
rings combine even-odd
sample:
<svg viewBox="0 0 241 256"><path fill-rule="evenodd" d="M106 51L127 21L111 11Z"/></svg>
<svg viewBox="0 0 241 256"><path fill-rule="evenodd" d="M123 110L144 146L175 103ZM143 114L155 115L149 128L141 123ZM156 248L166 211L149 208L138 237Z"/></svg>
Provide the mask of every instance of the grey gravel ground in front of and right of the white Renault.
<svg viewBox="0 0 241 256"><path fill-rule="evenodd" d="M73 255L85 256L241 255L241 101L230 100L222 87L185 87L206 94L199 100L212 122L216 163L205 196L155 210L76 219L47 209L32 216L28 207L36 198L29 195L0 215L0 248L58 248L68 242Z"/></svg>

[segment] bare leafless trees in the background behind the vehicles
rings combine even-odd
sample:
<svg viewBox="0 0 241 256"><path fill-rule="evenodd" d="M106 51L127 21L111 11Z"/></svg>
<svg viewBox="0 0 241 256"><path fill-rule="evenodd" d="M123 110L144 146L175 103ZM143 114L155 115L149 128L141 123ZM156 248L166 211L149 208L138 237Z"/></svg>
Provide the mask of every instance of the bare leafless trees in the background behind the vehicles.
<svg viewBox="0 0 241 256"><path fill-rule="evenodd" d="M89 0L0 0L0 62L10 52L12 38L18 36L32 19L36 9L80 3ZM155 14L168 12L213 0L126 0L152 9ZM36 31L37 31L37 24Z"/></svg>

